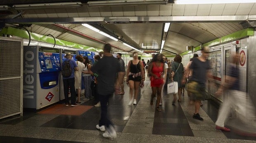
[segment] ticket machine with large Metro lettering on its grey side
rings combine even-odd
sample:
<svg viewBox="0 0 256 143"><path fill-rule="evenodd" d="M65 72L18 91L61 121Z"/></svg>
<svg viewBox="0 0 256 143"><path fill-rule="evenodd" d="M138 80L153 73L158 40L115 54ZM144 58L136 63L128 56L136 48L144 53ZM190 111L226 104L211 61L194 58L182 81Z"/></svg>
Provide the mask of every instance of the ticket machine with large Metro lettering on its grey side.
<svg viewBox="0 0 256 143"><path fill-rule="evenodd" d="M40 109L59 101L59 49L24 46L24 108Z"/></svg>

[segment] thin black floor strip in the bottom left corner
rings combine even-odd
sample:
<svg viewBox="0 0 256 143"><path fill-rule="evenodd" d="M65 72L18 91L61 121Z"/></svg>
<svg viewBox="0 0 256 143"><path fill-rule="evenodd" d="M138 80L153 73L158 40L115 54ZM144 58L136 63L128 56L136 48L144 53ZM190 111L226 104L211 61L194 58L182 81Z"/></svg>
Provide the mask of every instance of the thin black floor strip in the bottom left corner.
<svg viewBox="0 0 256 143"><path fill-rule="evenodd" d="M75 141L59 141L41 138L24 138L14 136L0 136L1 143L81 143Z"/></svg>

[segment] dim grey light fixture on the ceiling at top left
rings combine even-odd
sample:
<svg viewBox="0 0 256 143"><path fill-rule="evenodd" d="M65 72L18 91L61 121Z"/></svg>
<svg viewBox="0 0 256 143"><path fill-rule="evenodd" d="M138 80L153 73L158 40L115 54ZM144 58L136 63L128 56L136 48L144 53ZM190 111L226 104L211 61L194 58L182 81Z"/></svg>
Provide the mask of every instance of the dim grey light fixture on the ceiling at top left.
<svg viewBox="0 0 256 143"><path fill-rule="evenodd" d="M17 10L25 9L55 9L55 8L76 8L83 5L81 2L61 2L61 3L38 3L38 4L25 4L25 5L13 5L12 8Z"/></svg>

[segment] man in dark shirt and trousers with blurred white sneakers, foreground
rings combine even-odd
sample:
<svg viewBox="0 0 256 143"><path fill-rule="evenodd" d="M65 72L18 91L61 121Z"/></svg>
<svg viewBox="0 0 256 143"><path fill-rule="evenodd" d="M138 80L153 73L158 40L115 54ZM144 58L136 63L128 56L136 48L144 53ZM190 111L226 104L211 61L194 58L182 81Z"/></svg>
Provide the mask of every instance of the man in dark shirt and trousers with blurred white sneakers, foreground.
<svg viewBox="0 0 256 143"><path fill-rule="evenodd" d="M118 94L119 84L123 82L122 76L124 73L121 71L119 61L110 54L111 45L106 44L104 46L104 56L98 61L98 63L92 67L92 73L97 73L97 93L100 97L101 103L101 117L99 124L96 125L97 129L106 132L103 134L105 138L116 138L116 131L107 117L107 102L109 96L113 95L114 91ZM118 73L118 80L116 80L116 74Z"/></svg>

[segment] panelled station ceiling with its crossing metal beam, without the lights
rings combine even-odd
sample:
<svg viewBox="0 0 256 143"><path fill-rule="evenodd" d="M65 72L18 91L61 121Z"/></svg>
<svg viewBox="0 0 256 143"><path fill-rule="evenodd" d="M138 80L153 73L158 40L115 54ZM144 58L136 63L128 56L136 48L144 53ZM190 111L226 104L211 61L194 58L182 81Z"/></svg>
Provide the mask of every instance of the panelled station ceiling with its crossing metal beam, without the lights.
<svg viewBox="0 0 256 143"><path fill-rule="evenodd" d="M242 30L239 23L256 19L256 3L204 4L204 5L132 5L78 8L9 9L0 14L1 23L32 24L28 30L40 35L51 34L57 39L102 48L113 45L114 52L160 51L165 39L163 54L174 55L186 51L186 46L201 44ZM164 23L171 22L168 33ZM82 26L92 26L118 38L111 40Z"/></svg>

